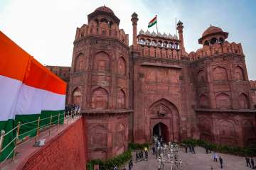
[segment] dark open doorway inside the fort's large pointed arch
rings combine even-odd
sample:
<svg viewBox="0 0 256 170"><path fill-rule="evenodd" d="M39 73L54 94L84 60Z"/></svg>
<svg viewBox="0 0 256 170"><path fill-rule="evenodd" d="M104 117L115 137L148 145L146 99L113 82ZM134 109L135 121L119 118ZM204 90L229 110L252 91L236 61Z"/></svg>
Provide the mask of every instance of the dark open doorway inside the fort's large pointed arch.
<svg viewBox="0 0 256 170"><path fill-rule="evenodd" d="M164 123L157 123L153 127L153 136L163 137L164 142L169 142L168 127Z"/></svg>

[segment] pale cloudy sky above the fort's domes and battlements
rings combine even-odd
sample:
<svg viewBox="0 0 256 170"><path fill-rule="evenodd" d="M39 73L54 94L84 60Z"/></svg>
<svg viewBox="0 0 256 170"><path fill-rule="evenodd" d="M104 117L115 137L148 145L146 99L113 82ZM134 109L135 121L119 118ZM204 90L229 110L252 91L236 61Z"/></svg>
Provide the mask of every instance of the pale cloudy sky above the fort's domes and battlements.
<svg viewBox="0 0 256 170"><path fill-rule="evenodd" d="M201 45L198 38L211 25L229 33L229 42L241 42L249 79L256 80L256 1L177 0L0 0L0 30L42 64L70 66L75 30L99 6L110 7L120 19L119 28L132 42L133 12L138 31L157 14L160 33L174 35L175 18L183 22L187 52ZM149 31L156 28L149 28Z"/></svg>

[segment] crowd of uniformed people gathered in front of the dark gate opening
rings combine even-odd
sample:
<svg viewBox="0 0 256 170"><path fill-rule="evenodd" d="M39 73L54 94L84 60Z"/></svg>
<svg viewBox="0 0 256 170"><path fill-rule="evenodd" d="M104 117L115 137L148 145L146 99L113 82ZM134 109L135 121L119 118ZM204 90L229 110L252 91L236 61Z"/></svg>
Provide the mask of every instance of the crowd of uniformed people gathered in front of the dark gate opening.
<svg viewBox="0 0 256 170"><path fill-rule="evenodd" d="M166 145L162 137L154 136L152 154L156 155L158 169L163 170L164 164L171 164L171 170L181 170L182 161L178 161L178 145L171 142Z"/></svg>

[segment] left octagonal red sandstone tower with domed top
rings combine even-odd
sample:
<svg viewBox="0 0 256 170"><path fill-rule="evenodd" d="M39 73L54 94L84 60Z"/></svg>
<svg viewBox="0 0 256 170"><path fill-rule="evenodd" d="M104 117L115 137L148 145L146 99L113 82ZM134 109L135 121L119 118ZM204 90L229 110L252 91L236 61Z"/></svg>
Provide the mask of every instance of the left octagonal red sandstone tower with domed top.
<svg viewBox="0 0 256 170"><path fill-rule="evenodd" d="M75 35L69 103L81 106L89 159L109 159L127 149L128 35L107 6L87 18Z"/></svg>

